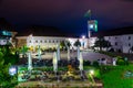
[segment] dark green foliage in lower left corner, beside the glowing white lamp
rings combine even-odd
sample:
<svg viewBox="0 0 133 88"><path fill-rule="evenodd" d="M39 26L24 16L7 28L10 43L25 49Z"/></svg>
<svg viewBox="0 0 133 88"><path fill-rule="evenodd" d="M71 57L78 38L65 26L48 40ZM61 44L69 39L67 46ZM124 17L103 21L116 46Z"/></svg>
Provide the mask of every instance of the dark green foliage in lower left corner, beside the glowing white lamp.
<svg viewBox="0 0 133 88"><path fill-rule="evenodd" d="M1 88L13 88L17 82L17 76L9 75L10 63L6 64L3 53L0 52L0 87Z"/></svg>

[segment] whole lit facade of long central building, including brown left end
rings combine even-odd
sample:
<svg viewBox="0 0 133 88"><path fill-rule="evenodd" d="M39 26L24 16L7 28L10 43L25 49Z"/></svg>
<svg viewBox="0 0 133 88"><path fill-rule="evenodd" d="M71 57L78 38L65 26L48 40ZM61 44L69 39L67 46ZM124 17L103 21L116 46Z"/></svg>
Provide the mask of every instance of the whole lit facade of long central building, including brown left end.
<svg viewBox="0 0 133 88"><path fill-rule="evenodd" d="M62 36L17 36L18 38L18 47L27 45L28 47L38 47L40 45L41 48L57 48L57 45L62 41L70 41L71 47L76 48L74 43L76 40L81 42L81 48L88 47L88 38L76 38L76 37L62 37Z"/></svg>

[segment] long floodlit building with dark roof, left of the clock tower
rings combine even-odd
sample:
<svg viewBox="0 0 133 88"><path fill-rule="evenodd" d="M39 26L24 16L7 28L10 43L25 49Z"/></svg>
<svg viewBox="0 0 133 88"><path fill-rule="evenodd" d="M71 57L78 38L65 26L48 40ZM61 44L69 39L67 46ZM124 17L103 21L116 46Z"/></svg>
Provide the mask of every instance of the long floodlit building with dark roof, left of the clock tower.
<svg viewBox="0 0 133 88"><path fill-rule="evenodd" d="M76 48L74 43L78 40L81 42L81 48L88 47L88 38L71 36L71 34L69 35L51 26L30 26L24 32L19 33L17 38L18 47L27 45L33 50L39 45L41 48L57 48L57 45L62 41L69 41L71 43L70 48Z"/></svg>

